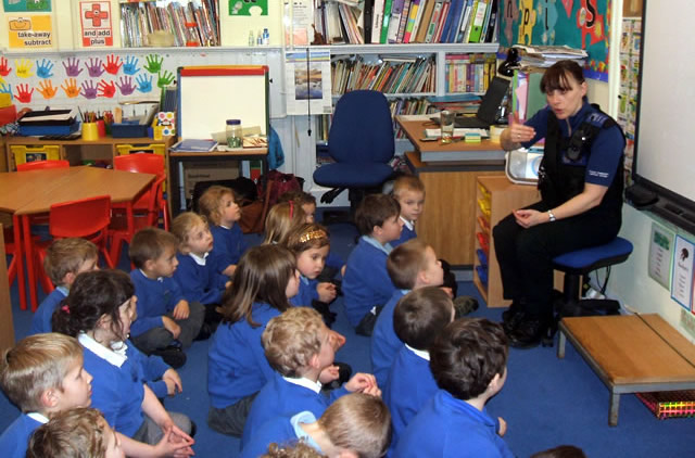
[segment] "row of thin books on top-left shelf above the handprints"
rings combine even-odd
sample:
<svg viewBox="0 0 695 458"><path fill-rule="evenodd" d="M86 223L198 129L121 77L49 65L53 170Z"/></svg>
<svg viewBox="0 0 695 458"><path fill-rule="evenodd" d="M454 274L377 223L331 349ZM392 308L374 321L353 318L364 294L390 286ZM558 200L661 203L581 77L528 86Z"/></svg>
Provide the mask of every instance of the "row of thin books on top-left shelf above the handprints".
<svg viewBox="0 0 695 458"><path fill-rule="evenodd" d="M148 35L164 30L174 46L219 46L219 9L216 0L195 2L122 2L121 31L124 48L150 46Z"/></svg>

